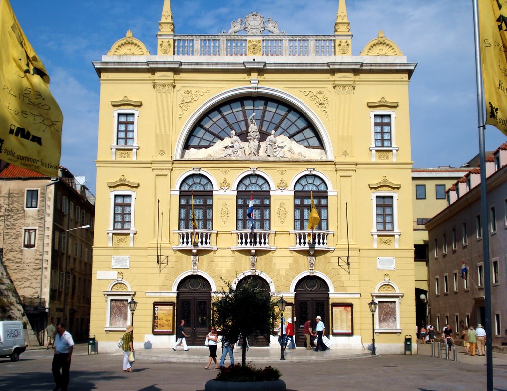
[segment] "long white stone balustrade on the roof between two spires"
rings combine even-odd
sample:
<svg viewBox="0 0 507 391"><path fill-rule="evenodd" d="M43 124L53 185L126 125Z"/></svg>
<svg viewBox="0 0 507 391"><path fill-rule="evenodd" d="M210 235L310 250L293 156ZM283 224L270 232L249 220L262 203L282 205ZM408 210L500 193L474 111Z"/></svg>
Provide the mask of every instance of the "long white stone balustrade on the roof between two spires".
<svg viewBox="0 0 507 391"><path fill-rule="evenodd" d="M336 39L335 35L174 35L174 55L334 56Z"/></svg>

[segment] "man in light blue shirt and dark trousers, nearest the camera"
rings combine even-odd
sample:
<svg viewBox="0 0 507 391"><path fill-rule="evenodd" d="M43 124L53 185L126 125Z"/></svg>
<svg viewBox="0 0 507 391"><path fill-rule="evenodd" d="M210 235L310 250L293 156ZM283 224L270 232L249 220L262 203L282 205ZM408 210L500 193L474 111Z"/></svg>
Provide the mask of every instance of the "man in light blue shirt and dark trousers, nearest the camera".
<svg viewBox="0 0 507 391"><path fill-rule="evenodd" d="M53 357L53 377L55 378L56 387L54 391L61 389L67 391L69 372L70 372L70 358L74 350L74 341L68 331L65 331L65 325L58 322L56 325L55 335L55 356ZM61 373L60 373L61 370Z"/></svg>

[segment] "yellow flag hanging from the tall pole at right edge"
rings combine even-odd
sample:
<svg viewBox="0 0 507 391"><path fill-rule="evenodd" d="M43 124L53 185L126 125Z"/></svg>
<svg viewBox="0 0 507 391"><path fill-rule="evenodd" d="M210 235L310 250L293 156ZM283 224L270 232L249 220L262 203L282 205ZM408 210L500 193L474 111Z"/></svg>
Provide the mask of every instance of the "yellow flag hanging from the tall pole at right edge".
<svg viewBox="0 0 507 391"><path fill-rule="evenodd" d="M479 0L486 125L507 135L507 2Z"/></svg>

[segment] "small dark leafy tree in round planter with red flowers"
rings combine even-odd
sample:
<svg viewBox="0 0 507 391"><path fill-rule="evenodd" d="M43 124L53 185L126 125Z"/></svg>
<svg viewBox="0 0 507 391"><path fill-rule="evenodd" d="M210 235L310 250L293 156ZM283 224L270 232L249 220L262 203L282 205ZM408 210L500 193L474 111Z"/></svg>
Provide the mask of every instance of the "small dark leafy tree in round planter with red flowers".
<svg viewBox="0 0 507 391"><path fill-rule="evenodd" d="M277 317L276 299L259 288L256 276L240 289L234 289L230 282L225 284L227 290L218 292L220 299L214 303L213 320L222 330L223 341L236 343L243 336L241 365L222 367L216 379L206 382L205 390L285 391L285 382L279 378L281 374L276 368L256 369L246 365L246 336L257 339L271 333Z"/></svg>

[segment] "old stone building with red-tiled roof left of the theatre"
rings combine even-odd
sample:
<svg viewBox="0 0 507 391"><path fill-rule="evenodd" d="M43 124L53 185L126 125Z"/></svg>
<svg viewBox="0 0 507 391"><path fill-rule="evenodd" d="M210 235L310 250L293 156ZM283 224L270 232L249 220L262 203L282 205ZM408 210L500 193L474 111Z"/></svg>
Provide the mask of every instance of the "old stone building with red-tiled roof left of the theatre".
<svg viewBox="0 0 507 391"><path fill-rule="evenodd" d="M15 165L0 173L3 264L40 343L49 322L88 337L94 197L60 167L50 178ZM81 228L89 226L89 228Z"/></svg>

